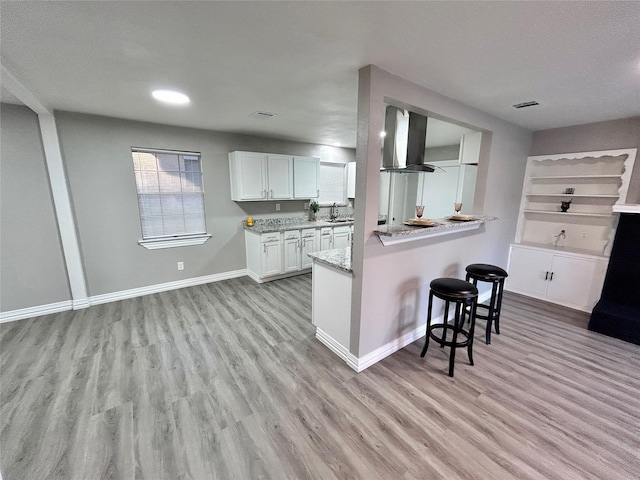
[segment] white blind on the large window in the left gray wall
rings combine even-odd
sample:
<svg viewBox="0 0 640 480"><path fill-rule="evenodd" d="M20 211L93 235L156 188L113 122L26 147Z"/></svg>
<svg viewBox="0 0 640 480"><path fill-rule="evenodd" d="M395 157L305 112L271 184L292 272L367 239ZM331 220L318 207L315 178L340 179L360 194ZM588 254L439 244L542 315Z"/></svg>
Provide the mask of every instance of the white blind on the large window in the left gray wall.
<svg viewBox="0 0 640 480"><path fill-rule="evenodd" d="M131 149L143 240L206 233L200 154Z"/></svg>

